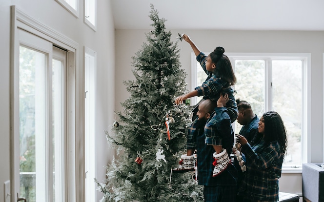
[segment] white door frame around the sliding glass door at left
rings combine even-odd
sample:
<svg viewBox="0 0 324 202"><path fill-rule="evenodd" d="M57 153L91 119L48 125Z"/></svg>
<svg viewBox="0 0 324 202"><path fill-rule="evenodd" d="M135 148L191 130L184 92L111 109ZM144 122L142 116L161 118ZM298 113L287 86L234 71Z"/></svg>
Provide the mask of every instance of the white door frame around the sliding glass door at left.
<svg viewBox="0 0 324 202"><path fill-rule="evenodd" d="M68 108L66 128L66 202L84 201L84 70L78 65L79 44L54 29L41 24L11 6L10 39L10 194L11 202L17 202L20 190L19 175L19 33L23 29L67 50ZM78 134L78 135L77 135ZM17 146L18 145L18 146ZM18 148L17 148L18 147ZM83 165L83 166L80 166ZM66 194L68 193L68 194Z"/></svg>

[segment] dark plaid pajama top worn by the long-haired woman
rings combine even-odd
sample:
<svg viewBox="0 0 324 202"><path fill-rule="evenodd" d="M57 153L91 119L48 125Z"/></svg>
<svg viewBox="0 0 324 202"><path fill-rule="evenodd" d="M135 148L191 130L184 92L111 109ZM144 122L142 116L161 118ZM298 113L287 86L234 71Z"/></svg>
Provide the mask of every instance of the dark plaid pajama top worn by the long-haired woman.
<svg viewBox="0 0 324 202"><path fill-rule="evenodd" d="M265 144L263 138L255 140L242 146L246 172L239 193L251 201L276 202L279 200L278 179L284 161L283 152L278 141Z"/></svg>

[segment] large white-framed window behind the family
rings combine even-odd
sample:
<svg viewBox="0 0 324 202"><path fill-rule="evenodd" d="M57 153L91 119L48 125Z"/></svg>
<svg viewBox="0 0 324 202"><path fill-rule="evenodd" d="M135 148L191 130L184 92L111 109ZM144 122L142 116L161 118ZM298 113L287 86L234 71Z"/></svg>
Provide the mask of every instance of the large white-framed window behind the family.
<svg viewBox="0 0 324 202"><path fill-rule="evenodd" d="M307 162L307 123L310 108L310 54L246 54L227 53L231 60L237 83L236 99L248 101L255 114L261 118L266 111L278 112L287 130L288 148L283 172L300 172ZM201 85L206 74L192 55L193 87ZM197 103L197 101L193 101ZM234 130L241 125L235 121ZM299 170L299 171L298 171Z"/></svg>

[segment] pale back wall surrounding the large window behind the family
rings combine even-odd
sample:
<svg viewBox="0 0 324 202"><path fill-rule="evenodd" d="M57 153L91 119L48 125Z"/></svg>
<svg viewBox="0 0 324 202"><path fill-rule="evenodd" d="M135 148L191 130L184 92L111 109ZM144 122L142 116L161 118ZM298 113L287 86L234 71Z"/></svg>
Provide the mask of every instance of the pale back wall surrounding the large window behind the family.
<svg viewBox="0 0 324 202"><path fill-rule="evenodd" d="M128 96L122 81L133 80L131 57L146 42L144 33L149 30L116 30L116 102L115 108L122 111L120 102ZM176 41L179 33L186 33L196 45L205 52L216 46L223 46L226 52L250 53L311 53L311 134L309 162L323 161L323 31L215 31L215 30L171 30ZM182 68L187 72L187 88L191 89L191 52L190 45L178 43ZM280 179L280 191L302 193L302 175L285 174Z"/></svg>

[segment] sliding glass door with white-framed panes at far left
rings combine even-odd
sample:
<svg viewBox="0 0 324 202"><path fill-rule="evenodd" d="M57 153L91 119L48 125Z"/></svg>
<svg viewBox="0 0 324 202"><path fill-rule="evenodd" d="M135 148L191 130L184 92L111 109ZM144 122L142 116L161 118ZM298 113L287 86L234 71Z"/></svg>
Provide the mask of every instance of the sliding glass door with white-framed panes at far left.
<svg viewBox="0 0 324 202"><path fill-rule="evenodd" d="M63 202L66 52L22 30L20 39L20 194Z"/></svg>

